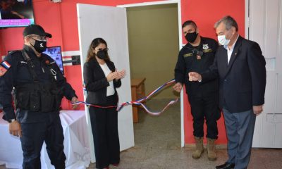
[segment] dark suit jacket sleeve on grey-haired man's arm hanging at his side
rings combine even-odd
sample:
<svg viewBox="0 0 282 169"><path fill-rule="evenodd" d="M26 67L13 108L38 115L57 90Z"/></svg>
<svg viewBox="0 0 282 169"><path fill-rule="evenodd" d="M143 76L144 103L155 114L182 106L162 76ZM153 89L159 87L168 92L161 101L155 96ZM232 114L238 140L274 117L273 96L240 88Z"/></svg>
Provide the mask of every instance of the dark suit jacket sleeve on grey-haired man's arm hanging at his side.
<svg viewBox="0 0 282 169"><path fill-rule="evenodd" d="M259 44L253 43L247 51L247 63L252 78L252 105L264 104L266 86L266 62Z"/></svg>

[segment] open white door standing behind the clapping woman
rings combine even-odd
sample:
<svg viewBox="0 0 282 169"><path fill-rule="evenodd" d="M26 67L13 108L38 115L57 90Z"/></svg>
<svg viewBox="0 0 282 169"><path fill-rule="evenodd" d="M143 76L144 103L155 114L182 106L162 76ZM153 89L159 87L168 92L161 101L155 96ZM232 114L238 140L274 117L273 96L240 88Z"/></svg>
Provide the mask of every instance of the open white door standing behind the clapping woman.
<svg viewBox="0 0 282 169"><path fill-rule="evenodd" d="M131 101L128 30L125 8L77 4L77 10L82 75L83 64L87 57L87 50L92 40L97 37L102 37L108 44L109 56L111 61L115 63L116 68L118 70L126 70L126 76L121 80L122 85L118 88L119 104L125 101ZM94 146L90 118L88 115L88 108L86 107L85 113L87 113L87 125L90 135L91 161L94 162ZM126 106L118 112L118 133L121 151L134 146L133 115L131 106Z"/></svg>

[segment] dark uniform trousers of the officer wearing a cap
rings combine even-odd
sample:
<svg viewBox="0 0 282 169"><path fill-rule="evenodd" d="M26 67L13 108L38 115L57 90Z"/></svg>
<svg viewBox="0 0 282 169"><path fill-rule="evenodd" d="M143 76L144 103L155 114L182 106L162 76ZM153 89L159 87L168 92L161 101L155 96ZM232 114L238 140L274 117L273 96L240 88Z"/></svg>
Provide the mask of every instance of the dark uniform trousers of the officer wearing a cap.
<svg viewBox="0 0 282 169"><path fill-rule="evenodd" d="M65 168L66 156L63 153L63 127L59 113L51 115L49 120L40 123L21 123L23 137L20 138L23 149L23 169L41 168L40 151L46 143L51 164L56 169Z"/></svg>

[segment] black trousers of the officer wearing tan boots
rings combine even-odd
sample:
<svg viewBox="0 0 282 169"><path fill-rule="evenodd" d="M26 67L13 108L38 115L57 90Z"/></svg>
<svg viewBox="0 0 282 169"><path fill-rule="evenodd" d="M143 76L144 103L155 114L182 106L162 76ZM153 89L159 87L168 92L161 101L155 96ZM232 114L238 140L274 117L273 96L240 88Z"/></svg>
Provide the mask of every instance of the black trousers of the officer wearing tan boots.
<svg viewBox="0 0 282 169"><path fill-rule="evenodd" d="M219 95L217 92L201 96L189 96L193 117L193 129L195 137L204 137L204 120L207 124L207 138L217 139L219 131L217 120L221 114L219 109Z"/></svg>

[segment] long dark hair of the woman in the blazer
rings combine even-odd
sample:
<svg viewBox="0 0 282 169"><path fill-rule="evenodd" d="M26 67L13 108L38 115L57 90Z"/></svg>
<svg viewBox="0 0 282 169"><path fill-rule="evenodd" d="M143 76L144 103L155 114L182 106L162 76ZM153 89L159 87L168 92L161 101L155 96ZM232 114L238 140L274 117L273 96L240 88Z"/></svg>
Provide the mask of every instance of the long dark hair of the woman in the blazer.
<svg viewBox="0 0 282 169"><path fill-rule="evenodd" d="M108 47L108 45L106 44L106 41L104 39L102 39L101 37L95 38L92 40L88 52L87 52L87 58L86 61L90 61L91 59L95 59L96 54L93 52L93 50L99 45L99 44L105 44L106 47ZM106 52L106 58L104 58L104 61L111 61L109 58L109 54L108 51Z"/></svg>

